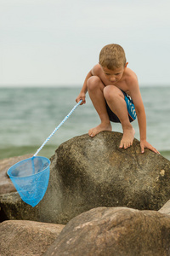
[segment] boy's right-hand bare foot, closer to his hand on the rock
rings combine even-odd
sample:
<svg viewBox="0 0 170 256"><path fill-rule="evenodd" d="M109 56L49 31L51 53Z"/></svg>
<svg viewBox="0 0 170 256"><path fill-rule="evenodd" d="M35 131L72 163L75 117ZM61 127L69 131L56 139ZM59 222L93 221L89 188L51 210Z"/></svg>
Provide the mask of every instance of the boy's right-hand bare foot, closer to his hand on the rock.
<svg viewBox="0 0 170 256"><path fill-rule="evenodd" d="M130 146L132 146L133 139L134 139L134 134L135 134L135 131L134 131L133 127L124 129L122 140L121 140L119 148L127 149Z"/></svg>

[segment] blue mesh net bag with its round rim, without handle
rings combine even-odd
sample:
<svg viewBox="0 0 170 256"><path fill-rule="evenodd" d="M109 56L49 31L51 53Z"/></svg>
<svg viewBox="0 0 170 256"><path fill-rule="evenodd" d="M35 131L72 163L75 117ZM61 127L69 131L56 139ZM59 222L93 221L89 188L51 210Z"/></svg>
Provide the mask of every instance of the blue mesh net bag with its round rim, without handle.
<svg viewBox="0 0 170 256"><path fill-rule="evenodd" d="M8 176L23 201L37 206L48 188L50 160L33 156L22 160L8 169Z"/></svg>

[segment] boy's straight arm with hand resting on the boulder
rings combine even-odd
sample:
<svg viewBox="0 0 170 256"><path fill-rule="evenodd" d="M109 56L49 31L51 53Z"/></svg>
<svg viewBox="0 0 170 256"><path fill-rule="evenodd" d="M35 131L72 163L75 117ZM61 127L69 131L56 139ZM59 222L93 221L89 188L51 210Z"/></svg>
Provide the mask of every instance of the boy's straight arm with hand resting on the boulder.
<svg viewBox="0 0 170 256"><path fill-rule="evenodd" d="M144 148L149 148L155 153L159 153L156 148L152 147L150 143L146 141L146 114L144 111L144 103L139 90L138 79L134 79L131 84L131 96L133 99L134 107L136 110L138 123L139 123L139 134L140 134L140 147L141 152L144 153Z"/></svg>

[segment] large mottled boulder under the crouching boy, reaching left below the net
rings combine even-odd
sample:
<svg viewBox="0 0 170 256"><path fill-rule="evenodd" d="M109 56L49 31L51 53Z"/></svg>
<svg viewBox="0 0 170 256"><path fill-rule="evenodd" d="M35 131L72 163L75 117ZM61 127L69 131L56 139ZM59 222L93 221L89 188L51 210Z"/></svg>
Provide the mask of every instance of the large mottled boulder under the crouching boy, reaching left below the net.
<svg viewBox="0 0 170 256"><path fill-rule="evenodd" d="M12 195L0 196L0 206L13 219L31 214L33 220L58 224L94 207L160 209L170 198L170 161L149 149L141 154L136 139L131 148L119 148L121 138L122 133L104 131L61 144L51 158L46 195L34 213L27 214L31 207L26 211L19 195L14 201Z"/></svg>

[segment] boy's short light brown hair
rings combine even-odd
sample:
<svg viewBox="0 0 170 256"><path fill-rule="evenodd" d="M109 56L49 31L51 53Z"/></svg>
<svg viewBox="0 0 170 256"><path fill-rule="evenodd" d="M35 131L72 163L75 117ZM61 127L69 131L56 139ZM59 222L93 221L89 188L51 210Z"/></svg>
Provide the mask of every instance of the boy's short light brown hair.
<svg viewBox="0 0 170 256"><path fill-rule="evenodd" d="M119 44L105 45L99 53L99 64L102 67L114 70L115 68L124 67L126 63L124 49Z"/></svg>

